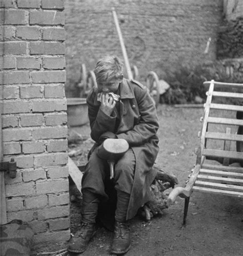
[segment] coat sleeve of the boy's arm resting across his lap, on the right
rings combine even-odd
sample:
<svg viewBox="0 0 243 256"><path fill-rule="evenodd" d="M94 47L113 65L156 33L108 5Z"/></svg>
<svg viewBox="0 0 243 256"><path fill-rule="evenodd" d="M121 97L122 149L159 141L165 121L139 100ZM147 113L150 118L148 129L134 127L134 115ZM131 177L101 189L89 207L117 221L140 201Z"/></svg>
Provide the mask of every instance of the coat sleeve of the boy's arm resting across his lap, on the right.
<svg viewBox="0 0 243 256"><path fill-rule="evenodd" d="M131 147L139 147L156 135L159 125L156 107L147 88L136 86L134 95L139 108L140 120L132 130L117 134L117 137L126 139Z"/></svg>

